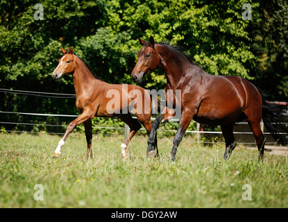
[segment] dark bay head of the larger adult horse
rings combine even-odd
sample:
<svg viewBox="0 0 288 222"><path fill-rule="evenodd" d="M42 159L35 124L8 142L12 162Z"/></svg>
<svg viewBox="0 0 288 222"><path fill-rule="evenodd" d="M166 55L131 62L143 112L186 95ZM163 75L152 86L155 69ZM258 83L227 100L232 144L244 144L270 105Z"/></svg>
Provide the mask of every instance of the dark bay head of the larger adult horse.
<svg viewBox="0 0 288 222"><path fill-rule="evenodd" d="M142 49L138 52L137 63L131 73L135 83L141 83L144 75L149 74L152 69L156 69L160 64L160 55L155 49L153 37L150 37L149 42L145 42L138 38Z"/></svg>

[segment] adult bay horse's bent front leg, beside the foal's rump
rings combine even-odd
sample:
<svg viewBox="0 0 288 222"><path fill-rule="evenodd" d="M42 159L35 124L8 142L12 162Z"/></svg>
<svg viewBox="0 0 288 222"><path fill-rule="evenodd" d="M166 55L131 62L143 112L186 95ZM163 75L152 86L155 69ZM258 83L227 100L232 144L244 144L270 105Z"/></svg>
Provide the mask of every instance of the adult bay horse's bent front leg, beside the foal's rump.
<svg viewBox="0 0 288 222"><path fill-rule="evenodd" d="M148 139L148 147L147 147L147 157L155 157L156 155L158 155L158 151L156 153L154 148L157 148L157 137L156 137L156 130L159 128L160 123L166 123L167 121L169 121L170 119L172 119L175 116L176 112L174 110L171 110L169 108L164 108L164 111L162 112L162 114L160 114L160 116L158 116L152 123L152 129L151 129L151 133L149 135L149 139ZM158 148L157 148L158 150Z"/></svg>

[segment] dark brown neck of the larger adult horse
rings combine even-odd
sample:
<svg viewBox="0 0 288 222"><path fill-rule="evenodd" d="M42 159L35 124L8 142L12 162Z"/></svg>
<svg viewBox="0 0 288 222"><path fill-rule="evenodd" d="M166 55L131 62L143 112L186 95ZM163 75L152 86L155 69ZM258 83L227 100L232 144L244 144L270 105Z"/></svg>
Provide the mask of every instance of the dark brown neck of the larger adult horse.
<svg viewBox="0 0 288 222"><path fill-rule="evenodd" d="M159 53L162 60L160 67L164 69L167 76L167 84L171 88L176 89L181 79L187 75L192 64L181 53L177 51L171 52L168 46L162 46Z"/></svg>

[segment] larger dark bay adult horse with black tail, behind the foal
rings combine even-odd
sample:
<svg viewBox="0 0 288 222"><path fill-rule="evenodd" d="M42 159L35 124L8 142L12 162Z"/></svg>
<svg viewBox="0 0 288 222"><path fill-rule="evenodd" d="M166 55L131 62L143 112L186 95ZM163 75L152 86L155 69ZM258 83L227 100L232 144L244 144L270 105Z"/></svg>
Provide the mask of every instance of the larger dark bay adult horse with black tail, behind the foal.
<svg viewBox="0 0 288 222"><path fill-rule="evenodd" d="M226 142L223 155L226 160L236 146L233 126L236 122L246 119L256 139L260 159L264 155L265 137L260 128L261 119L269 133L280 144L287 144L287 117L277 105L267 103L265 95L248 80L239 76L214 76L207 74L201 67L195 65L178 46L169 43L157 43L153 37L149 42L138 38L142 49L137 53L137 63L131 73L135 83L140 83L144 75L157 67L164 69L167 77L165 92L172 89L174 105L180 105L181 117L175 137L171 160L175 160L177 148L183 135L194 119L198 123L221 126ZM180 89L181 98L176 98L175 91ZM168 99L168 97L167 97ZM160 123L169 121L175 112L164 112L152 123L148 140L147 153L155 155L156 130ZM156 142L157 143L157 142Z"/></svg>

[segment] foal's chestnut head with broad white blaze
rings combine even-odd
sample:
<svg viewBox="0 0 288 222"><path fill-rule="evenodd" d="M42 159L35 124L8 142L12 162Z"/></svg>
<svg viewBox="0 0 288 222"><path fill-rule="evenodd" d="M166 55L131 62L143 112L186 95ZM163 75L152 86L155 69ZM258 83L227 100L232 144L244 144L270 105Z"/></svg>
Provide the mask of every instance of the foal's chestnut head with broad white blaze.
<svg viewBox="0 0 288 222"><path fill-rule="evenodd" d="M58 80L64 74L70 74L75 69L73 49L69 46L69 51L62 49L63 56L59 60L58 67L53 71L53 78Z"/></svg>

